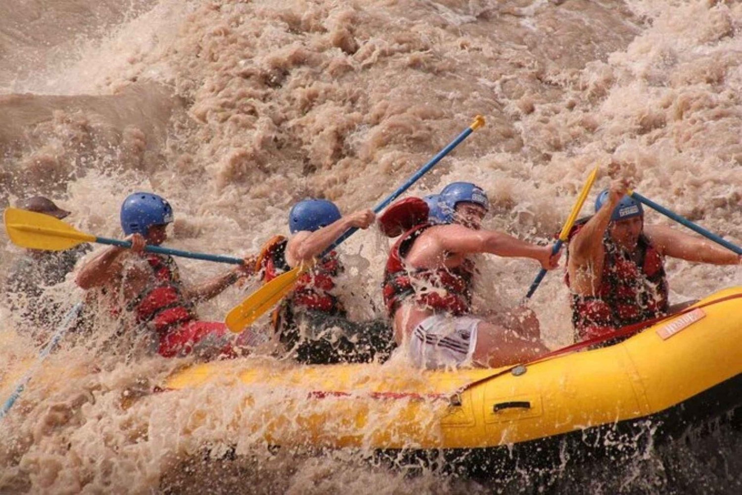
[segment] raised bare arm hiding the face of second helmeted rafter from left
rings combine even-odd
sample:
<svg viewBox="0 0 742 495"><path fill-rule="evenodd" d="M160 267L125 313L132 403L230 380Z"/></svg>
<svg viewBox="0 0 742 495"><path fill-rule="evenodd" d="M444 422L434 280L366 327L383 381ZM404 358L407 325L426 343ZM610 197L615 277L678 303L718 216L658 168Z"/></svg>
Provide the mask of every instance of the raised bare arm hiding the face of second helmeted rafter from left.
<svg viewBox="0 0 742 495"><path fill-rule="evenodd" d="M299 232L286 245L286 263L292 268L307 263L332 246L338 237L352 227L367 229L375 219L371 210L361 210L336 220L315 232Z"/></svg>

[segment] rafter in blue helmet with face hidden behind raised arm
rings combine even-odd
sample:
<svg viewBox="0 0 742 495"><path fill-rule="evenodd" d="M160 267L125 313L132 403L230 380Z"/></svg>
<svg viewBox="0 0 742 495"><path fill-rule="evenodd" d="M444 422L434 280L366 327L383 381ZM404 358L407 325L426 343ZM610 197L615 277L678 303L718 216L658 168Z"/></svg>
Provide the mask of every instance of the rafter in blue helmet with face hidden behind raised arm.
<svg viewBox="0 0 742 495"><path fill-rule="evenodd" d="M374 219L370 210L343 216L331 201L306 199L289 212L292 237L278 235L263 246L258 260L265 282L301 263L313 263L272 315L274 332L301 363L367 362L390 355L393 339L386 321L347 318L336 294L336 278L344 271L338 253L316 259L347 229L367 229Z"/></svg>

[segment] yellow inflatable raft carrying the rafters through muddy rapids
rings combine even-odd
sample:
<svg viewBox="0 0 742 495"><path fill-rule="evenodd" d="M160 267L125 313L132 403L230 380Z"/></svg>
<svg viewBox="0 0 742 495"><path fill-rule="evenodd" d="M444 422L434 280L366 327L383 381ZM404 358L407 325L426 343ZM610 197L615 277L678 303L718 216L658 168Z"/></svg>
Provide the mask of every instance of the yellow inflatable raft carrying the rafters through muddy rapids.
<svg viewBox="0 0 742 495"><path fill-rule="evenodd" d="M646 419L683 429L742 405L742 287L695 307L610 347L506 369L246 358L189 367L163 390L232 387L240 429L284 446L497 448Z"/></svg>

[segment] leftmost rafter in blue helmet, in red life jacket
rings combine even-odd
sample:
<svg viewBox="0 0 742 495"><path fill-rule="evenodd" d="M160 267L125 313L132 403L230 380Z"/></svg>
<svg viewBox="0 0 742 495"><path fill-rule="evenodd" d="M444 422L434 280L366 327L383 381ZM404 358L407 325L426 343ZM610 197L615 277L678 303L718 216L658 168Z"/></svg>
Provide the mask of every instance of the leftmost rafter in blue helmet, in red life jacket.
<svg viewBox="0 0 742 495"><path fill-rule="evenodd" d="M79 270L82 289L103 288L116 312L133 313L138 329L149 330L152 352L165 358L191 353L202 357L234 355L235 341L221 321L203 321L195 306L223 292L239 278L252 275L255 258L196 286L186 287L175 260L145 251L147 244L167 239L165 226L173 221L170 204L150 192L135 192L121 206L121 226L131 236L131 249L111 246ZM122 302L124 304L122 304ZM246 335L246 334L243 334Z"/></svg>

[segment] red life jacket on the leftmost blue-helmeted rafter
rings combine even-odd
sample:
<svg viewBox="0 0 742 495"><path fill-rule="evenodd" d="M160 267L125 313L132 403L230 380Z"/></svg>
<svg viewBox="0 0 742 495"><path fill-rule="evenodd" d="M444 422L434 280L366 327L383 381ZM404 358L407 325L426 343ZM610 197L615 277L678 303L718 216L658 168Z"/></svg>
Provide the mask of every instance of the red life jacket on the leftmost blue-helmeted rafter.
<svg viewBox="0 0 742 495"><path fill-rule="evenodd" d="M173 258L154 253L145 253L142 258L152 269L153 277L151 286L128 304L137 323L151 325L162 336L173 327L196 319L193 305L183 298L183 283Z"/></svg>

